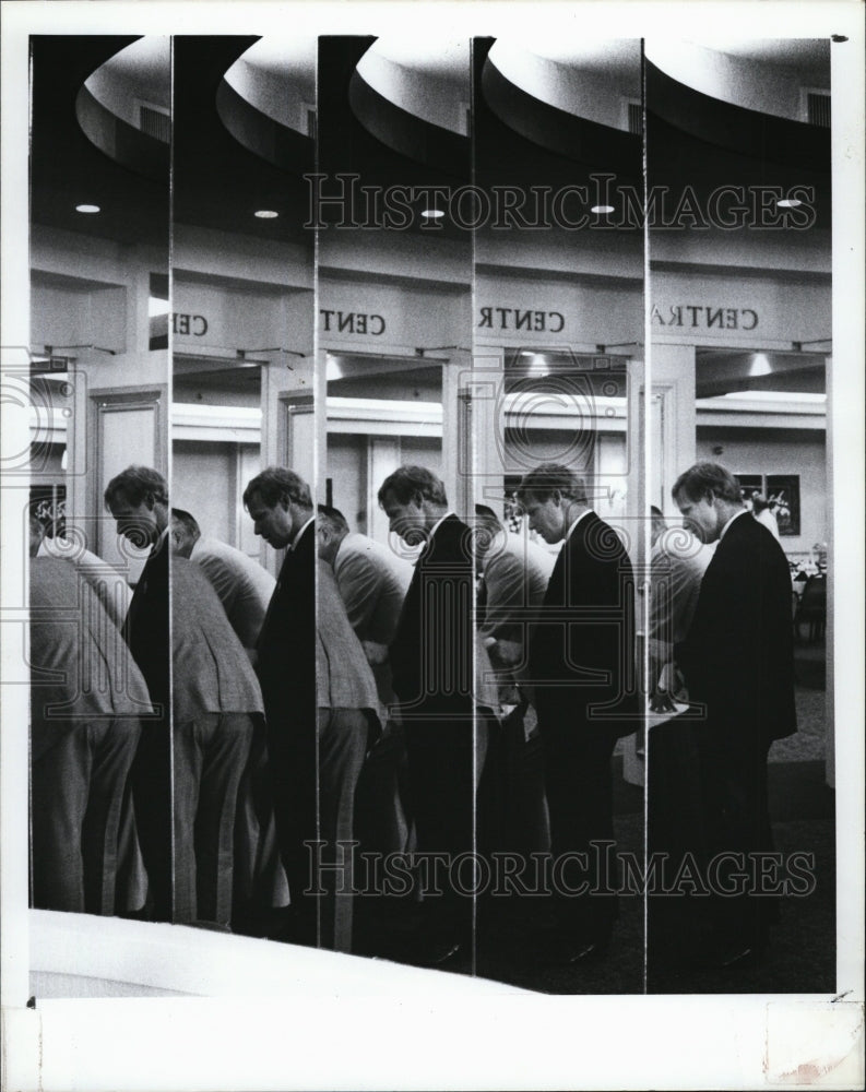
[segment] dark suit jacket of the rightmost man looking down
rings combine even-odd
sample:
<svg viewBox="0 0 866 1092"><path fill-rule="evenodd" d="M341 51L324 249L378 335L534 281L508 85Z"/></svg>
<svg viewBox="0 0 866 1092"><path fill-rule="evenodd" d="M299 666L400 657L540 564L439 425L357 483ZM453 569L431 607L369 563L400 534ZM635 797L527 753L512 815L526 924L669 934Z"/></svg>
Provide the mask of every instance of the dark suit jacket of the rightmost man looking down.
<svg viewBox="0 0 866 1092"><path fill-rule="evenodd" d="M748 512L715 548L677 661L712 725L766 744L796 732L787 559Z"/></svg>

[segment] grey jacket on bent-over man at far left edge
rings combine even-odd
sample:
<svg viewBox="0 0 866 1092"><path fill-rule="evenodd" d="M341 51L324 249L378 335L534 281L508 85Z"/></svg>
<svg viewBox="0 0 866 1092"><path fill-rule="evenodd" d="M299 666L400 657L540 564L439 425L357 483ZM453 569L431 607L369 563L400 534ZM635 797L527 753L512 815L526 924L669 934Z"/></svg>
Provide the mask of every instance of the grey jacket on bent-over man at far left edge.
<svg viewBox="0 0 866 1092"><path fill-rule="evenodd" d="M31 560L31 712L33 727L142 716L147 688L120 631L74 565ZM50 743L34 732L34 758Z"/></svg>

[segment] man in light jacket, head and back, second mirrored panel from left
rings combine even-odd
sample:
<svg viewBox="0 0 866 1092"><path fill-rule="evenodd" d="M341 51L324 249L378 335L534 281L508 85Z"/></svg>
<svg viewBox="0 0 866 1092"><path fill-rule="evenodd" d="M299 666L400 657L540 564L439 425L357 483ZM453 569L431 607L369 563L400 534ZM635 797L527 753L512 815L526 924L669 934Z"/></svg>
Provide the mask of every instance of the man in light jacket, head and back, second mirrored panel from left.
<svg viewBox="0 0 866 1092"><path fill-rule="evenodd" d="M171 546L204 571L238 640L253 650L274 591L271 573L234 546L203 538L195 518L180 508L171 509Z"/></svg>

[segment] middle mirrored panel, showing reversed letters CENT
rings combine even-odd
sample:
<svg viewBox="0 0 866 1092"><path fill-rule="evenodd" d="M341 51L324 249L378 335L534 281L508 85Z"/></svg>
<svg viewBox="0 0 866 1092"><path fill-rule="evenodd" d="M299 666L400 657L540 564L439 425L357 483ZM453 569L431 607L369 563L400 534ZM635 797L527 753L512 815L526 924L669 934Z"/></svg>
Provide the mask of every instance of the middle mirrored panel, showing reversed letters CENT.
<svg viewBox="0 0 866 1092"><path fill-rule="evenodd" d="M468 40L321 38L318 87L322 839L351 950L471 972Z"/></svg>

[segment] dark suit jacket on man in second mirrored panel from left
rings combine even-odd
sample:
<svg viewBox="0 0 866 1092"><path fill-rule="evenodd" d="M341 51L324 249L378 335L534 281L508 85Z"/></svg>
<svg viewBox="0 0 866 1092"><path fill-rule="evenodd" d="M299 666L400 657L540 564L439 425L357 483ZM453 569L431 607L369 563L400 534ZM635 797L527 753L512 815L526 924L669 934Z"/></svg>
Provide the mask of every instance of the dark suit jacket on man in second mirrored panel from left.
<svg viewBox="0 0 866 1092"><path fill-rule="evenodd" d="M286 549L259 640L265 715L316 717L316 525Z"/></svg>

